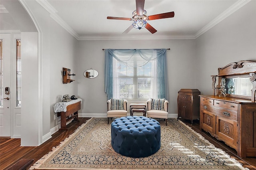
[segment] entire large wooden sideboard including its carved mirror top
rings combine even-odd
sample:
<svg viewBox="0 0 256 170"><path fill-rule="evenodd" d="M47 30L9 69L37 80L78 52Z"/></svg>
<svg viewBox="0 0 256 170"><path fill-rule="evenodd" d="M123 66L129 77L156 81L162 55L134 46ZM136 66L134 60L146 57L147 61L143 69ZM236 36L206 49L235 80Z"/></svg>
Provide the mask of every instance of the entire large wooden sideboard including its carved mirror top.
<svg viewBox="0 0 256 170"><path fill-rule="evenodd" d="M212 88L213 95L199 95L200 129L236 149L240 158L256 156L256 61L218 68Z"/></svg>

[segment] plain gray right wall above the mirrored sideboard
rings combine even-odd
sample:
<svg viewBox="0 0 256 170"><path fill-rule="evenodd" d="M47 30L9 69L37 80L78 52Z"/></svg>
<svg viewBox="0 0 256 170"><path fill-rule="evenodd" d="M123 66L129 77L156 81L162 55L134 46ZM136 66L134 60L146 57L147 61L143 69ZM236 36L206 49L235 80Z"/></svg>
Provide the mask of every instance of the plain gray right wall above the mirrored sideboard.
<svg viewBox="0 0 256 170"><path fill-rule="evenodd" d="M256 61L256 1L228 16L196 39L196 87L212 95L212 78L218 67L241 60Z"/></svg>

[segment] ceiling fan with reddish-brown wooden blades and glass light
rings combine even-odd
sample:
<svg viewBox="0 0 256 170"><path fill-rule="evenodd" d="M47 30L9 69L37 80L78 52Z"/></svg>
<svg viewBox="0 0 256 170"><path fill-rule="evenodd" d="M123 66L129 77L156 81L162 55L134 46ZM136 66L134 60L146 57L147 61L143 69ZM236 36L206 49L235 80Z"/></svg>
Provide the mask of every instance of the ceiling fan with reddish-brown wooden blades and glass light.
<svg viewBox="0 0 256 170"><path fill-rule="evenodd" d="M145 0L136 0L136 10L132 12L132 18L124 18L124 17L112 17L108 16L107 19L110 20L132 20L132 25L127 28L123 34L127 34L132 28L136 28L138 30L142 28L146 28L152 34L157 32L146 20L158 20L163 18L172 18L174 17L174 12L166 12L162 14L155 14L151 16L147 16L146 10L144 10Z"/></svg>

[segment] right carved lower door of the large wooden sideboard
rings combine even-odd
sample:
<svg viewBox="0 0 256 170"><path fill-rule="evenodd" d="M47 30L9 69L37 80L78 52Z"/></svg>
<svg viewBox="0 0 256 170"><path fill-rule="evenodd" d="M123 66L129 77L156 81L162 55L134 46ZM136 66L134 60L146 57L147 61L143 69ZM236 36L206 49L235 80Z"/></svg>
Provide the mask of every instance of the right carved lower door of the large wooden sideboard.
<svg viewBox="0 0 256 170"><path fill-rule="evenodd" d="M216 135L228 146L237 149L237 121L216 116Z"/></svg>

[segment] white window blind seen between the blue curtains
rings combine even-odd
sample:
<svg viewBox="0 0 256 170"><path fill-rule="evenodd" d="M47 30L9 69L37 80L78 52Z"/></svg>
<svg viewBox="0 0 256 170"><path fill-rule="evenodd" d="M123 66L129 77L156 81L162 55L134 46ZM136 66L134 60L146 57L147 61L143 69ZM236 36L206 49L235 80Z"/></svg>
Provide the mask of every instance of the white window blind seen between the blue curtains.
<svg viewBox="0 0 256 170"><path fill-rule="evenodd" d="M136 56L133 56L126 63L114 59L113 78L114 85L116 85L114 96L124 99L149 99L154 79L155 63L155 61L145 63L142 57Z"/></svg>

